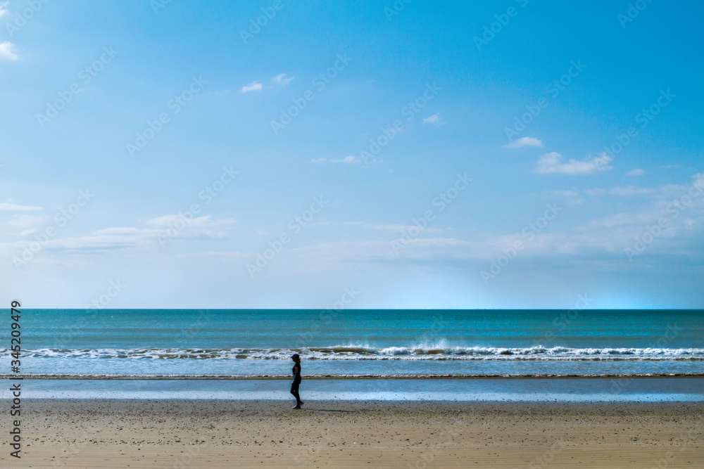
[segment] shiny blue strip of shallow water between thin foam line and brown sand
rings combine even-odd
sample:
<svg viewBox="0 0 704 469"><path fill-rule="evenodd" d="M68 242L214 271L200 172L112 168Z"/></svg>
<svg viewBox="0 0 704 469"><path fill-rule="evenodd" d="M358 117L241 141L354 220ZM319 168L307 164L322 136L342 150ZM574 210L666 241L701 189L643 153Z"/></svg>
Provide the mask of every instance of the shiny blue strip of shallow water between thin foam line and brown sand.
<svg viewBox="0 0 704 469"><path fill-rule="evenodd" d="M241 377L240 377L241 378ZM8 379L30 399L290 399L291 377L246 379ZM704 402L703 377L318 378L301 395L340 401L679 401Z"/></svg>

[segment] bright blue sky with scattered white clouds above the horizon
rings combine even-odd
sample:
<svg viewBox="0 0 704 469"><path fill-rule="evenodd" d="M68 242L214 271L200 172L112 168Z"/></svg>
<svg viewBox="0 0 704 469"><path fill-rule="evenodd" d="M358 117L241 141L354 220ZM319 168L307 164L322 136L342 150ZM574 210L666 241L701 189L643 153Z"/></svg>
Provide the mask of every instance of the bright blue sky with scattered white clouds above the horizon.
<svg viewBox="0 0 704 469"><path fill-rule="evenodd" d="M700 308L703 13L0 0L2 301Z"/></svg>

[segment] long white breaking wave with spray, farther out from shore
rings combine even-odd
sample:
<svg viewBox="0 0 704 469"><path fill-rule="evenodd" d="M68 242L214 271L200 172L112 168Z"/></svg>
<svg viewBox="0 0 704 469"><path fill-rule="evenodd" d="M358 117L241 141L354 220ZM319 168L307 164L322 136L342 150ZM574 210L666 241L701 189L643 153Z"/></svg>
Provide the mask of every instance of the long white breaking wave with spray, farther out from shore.
<svg viewBox="0 0 704 469"><path fill-rule="evenodd" d="M0 355L9 356L8 349ZM298 353L308 360L534 360L534 361L639 361L704 360L704 349L667 349L635 347L372 347L370 345L335 345L332 347L296 348L141 348L141 349L33 349L23 356L54 359L248 359L289 360Z"/></svg>

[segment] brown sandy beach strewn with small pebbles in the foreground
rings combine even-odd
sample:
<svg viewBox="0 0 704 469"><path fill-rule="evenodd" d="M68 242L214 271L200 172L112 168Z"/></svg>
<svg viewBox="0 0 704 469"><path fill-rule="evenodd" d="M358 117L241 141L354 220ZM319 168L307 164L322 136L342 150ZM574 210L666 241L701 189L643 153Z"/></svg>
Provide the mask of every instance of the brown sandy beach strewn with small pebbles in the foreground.
<svg viewBox="0 0 704 469"><path fill-rule="evenodd" d="M701 468L704 404L27 399L13 468ZM3 432L7 435L6 422Z"/></svg>

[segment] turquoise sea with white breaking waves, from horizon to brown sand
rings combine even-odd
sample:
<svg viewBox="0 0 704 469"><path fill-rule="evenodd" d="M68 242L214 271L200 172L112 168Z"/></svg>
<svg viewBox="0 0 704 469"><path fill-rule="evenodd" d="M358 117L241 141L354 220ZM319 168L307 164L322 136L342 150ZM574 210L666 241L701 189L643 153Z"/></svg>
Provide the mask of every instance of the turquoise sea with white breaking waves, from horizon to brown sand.
<svg viewBox="0 0 704 469"><path fill-rule="evenodd" d="M6 344L10 316L5 309L0 318ZM311 385L323 394L325 387L337 395L353 386L332 380L384 380L398 384L382 390L377 383L377 394L367 396L395 386L432 399L442 392L479 395L484 382L496 390L489 378L524 378L522 385L501 382L520 390L532 382L544 387L539 378L551 377L598 378L604 380L598 393L613 397L640 386L619 390L617 379L691 377L677 385L686 390L664 394L704 400L703 310L23 309L20 330L20 375L43 383L34 389L51 395L70 394L61 383L77 379L96 395L115 390L106 384L111 380L149 395L159 389L197 394L197 387L205 389L197 380L230 381L203 391L215 397L227 389L276 394L276 384L265 380L287 379L291 354L298 353L304 380L327 380ZM11 373L10 354L0 348L2 380L20 376ZM151 388L125 380L148 380ZM178 380L189 384L172 386ZM247 391L233 380L260 384ZM573 391L584 391L581 383ZM357 394L369 387L360 386ZM558 387L557 394L572 392ZM287 390L277 395L289 397Z"/></svg>

